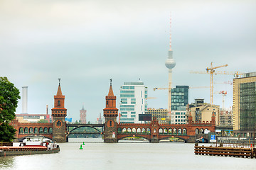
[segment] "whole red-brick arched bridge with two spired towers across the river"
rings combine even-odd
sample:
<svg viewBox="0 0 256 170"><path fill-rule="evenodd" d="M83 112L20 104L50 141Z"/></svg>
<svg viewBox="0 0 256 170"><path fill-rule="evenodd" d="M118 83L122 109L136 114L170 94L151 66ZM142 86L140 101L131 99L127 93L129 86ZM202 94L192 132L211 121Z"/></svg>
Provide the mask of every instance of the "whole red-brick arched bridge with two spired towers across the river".
<svg viewBox="0 0 256 170"><path fill-rule="evenodd" d="M16 128L16 139L22 140L26 136L42 135L55 142L68 142L71 134L103 134L104 142L118 142L125 137L143 137L149 142L158 143L169 137L177 137L185 142L195 142L196 138L203 135L205 130L215 132L215 115L212 114L211 121L194 122L191 113L188 115L188 124L159 124L156 118L151 123L117 123L118 109L116 99L110 82L110 91L106 96L106 108L103 109L104 124L66 124L65 117L67 109L64 107L65 96L63 96L60 83L57 94L54 96L54 108L52 108L53 123L19 123L18 120L11 121ZM69 130L73 127L72 130ZM95 132L75 132L78 128L94 128ZM101 129L101 130L99 130ZM77 130L78 131L78 130Z"/></svg>

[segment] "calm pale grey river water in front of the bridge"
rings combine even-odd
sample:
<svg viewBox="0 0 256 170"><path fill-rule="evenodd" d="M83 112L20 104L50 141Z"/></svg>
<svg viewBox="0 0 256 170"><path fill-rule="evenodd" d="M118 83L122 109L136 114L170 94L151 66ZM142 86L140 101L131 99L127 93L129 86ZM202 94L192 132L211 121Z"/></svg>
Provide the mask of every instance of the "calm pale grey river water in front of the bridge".
<svg viewBox="0 0 256 170"><path fill-rule="evenodd" d="M182 142L109 144L100 138L69 140L59 144L57 154L0 157L0 169L256 169L256 159L196 155L194 144ZM85 145L79 149L82 142Z"/></svg>

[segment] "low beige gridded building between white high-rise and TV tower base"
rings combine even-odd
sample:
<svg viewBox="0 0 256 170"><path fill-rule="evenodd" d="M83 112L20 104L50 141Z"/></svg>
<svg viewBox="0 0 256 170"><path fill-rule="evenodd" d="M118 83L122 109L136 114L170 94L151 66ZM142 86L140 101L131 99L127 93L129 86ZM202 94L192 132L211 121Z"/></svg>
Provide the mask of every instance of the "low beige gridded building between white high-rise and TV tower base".
<svg viewBox="0 0 256 170"><path fill-rule="evenodd" d="M147 113L151 114L151 118L156 118L159 123L169 123L169 115L166 108L148 108Z"/></svg>

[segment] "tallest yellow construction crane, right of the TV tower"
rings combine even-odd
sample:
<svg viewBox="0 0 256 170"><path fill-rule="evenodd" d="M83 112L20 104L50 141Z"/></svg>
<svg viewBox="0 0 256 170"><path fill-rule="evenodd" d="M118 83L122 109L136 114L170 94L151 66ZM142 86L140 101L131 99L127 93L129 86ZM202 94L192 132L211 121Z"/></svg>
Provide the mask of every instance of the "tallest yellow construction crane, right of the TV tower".
<svg viewBox="0 0 256 170"><path fill-rule="evenodd" d="M215 69L218 69L220 67L227 67L228 64L221 65L218 67L213 67L213 62L210 62L210 68L206 68L206 72L191 72L191 73L199 73L199 74L210 74L210 104L213 104L213 73L214 74L234 74L229 72L215 72ZM209 72L210 71L210 72Z"/></svg>

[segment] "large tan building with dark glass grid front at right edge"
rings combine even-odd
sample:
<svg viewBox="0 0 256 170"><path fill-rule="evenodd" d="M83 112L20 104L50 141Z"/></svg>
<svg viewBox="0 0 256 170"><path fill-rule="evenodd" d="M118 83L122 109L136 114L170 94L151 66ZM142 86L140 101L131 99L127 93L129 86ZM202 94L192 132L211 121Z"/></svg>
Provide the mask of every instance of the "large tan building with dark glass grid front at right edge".
<svg viewBox="0 0 256 170"><path fill-rule="evenodd" d="M233 79L233 130L239 137L254 137L256 129L256 72Z"/></svg>

